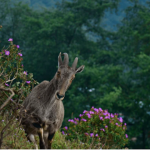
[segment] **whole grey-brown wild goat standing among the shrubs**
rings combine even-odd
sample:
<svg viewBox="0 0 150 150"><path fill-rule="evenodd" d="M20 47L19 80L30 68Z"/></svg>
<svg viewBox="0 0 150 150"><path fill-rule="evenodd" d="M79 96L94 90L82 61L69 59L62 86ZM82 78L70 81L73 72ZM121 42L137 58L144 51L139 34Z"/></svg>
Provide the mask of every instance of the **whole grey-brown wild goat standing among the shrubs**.
<svg viewBox="0 0 150 150"><path fill-rule="evenodd" d="M21 123L28 140L34 143L36 149L38 146L34 135L39 136L41 149L51 149L52 138L64 119L62 100L65 92L75 78L75 74L84 69L83 65L76 69L77 62L76 57L72 67L69 67L68 54L64 53L62 61L60 53L58 71L54 78L50 82L43 81L35 86L23 102L23 108L20 111Z"/></svg>

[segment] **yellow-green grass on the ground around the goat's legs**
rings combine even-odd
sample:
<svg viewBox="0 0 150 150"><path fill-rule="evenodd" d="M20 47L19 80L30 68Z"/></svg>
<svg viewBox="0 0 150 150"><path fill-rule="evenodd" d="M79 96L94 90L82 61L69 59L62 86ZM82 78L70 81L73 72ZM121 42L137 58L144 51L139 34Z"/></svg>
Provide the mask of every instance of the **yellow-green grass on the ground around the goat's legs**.
<svg viewBox="0 0 150 150"><path fill-rule="evenodd" d="M9 119L7 117L0 116L0 132L3 127L8 123ZM27 141L24 129L19 126L17 119L13 120L12 125L4 132L4 136L8 134L3 140L2 149L35 149L34 144ZM39 142L38 136L35 137L37 144ZM39 144L38 144L39 145ZM65 135L62 135L60 131L57 131L53 143L52 149L87 149L91 145L83 144L79 141L67 141L65 140Z"/></svg>

